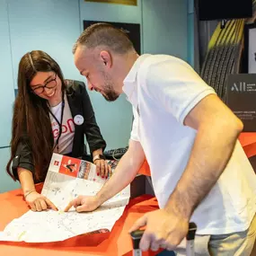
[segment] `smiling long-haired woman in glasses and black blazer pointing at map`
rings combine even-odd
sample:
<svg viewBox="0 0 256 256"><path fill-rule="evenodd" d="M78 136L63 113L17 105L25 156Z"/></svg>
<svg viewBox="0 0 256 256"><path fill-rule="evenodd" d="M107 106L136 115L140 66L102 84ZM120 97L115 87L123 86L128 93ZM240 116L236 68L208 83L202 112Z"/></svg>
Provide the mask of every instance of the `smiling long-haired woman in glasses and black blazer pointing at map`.
<svg viewBox="0 0 256 256"><path fill-rule="evenodd" d="M35 190L44 181L53 152L93 160L97 174L107 178L106 146L83 82L64 80L57 62L43 51L25 54L19 65L18 95L13 109L11 159L6 170L19 180L34 211L51 207ZM86 156L84 135L91 155ZM11 168L12 165L12 168Z"/></svg>

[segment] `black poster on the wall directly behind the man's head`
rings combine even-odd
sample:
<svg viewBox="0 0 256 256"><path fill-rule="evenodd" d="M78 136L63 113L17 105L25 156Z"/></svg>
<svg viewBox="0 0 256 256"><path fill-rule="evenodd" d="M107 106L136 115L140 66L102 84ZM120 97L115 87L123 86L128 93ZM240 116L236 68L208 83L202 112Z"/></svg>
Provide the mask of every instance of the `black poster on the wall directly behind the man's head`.
<svg viewBox="0 0 256 256"><path fill-rule="evenodd" d="M94 23L98 23L96 21L84 21L84 30ZM137 53L140 55L141 46L140 46L140 24L138 23L124 23L124 22L107 22L112 26L122 29L126 31L128 38L132 41L134 48Z"/></svg>

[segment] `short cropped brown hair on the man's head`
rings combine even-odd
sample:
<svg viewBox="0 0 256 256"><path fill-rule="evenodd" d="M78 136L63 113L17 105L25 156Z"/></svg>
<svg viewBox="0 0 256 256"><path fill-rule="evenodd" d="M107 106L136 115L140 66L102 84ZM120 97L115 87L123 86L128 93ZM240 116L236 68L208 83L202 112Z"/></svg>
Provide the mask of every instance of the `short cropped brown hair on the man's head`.
<svg viewBox="0 0 256 256"><path fill-rule="evenodd" d="M83 31L75 42L73 48L74 54L80 45L89 49L104 46L119 54L125 54L130 50L135 50L125 31L104 22L95 23Z"/></svg>

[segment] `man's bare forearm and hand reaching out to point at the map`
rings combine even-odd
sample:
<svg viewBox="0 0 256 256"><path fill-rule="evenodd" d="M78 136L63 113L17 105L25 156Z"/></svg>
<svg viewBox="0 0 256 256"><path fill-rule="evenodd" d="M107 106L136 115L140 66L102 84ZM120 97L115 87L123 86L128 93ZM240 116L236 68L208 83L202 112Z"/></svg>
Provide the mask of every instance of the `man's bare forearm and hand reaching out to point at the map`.
<svg viewBox="0 0 256 256"><path fill-rule="evenodd" d="M94 197L79 196L68 204L65 211L68 211L73 206L79 212L93 211L101 206L134 180L144 160L145 154L140 143L130 140L127 153L120 159L115 172L102 187L102 190Z"/></svg>

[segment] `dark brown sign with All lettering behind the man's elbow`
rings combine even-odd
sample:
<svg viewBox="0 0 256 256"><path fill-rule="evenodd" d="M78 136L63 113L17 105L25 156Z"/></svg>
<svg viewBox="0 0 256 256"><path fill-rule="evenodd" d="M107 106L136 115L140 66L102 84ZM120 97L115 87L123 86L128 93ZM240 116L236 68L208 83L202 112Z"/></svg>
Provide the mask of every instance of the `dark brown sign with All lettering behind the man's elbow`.
<svg viewBox="0 0 256 256"><path fill-rule="evenodd" d="M226 105L243 121L244 132L256 131L256 74L229 75Z"/></svg>

